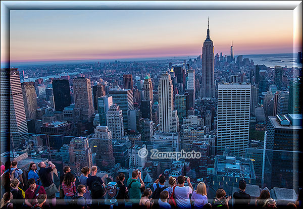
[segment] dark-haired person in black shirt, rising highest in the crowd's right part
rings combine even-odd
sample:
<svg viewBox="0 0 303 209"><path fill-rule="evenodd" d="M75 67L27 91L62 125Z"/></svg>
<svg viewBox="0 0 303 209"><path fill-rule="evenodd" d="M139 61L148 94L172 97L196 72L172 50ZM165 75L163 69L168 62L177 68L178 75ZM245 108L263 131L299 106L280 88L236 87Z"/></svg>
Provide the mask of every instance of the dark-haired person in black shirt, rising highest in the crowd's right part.
<svg viewBox="0 0 303 209"><path fill-rule="evenodd" d="M246 189L246 181L244 180L239 181L239 191L233 194L234 209L238 209L238 208L241 209L248 206L251 198L250 195L245 192L245 189Z"/></svg>

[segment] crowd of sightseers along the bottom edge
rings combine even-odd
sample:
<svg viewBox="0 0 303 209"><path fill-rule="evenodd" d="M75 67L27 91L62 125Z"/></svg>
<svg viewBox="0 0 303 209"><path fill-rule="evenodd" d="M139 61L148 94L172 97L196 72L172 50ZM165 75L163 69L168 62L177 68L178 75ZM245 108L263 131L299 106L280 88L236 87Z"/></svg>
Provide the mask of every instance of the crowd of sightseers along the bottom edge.
<svg viewBox="0 0 303 209"><path fill-rule="evenodd" d="M10 190L3 191L0 209L21 209L21 208L99 208L105 206L107 189L106 178L97 176L97 167L84 167L81 169L79 183L76 185L76 176L71 173L71 168L65 166L63 174L60 175L60 186L54 183L53 175L56 166L48 161L29 165L27 178L22 175L23 171L18 168L16 161L12 161L10 169L1 169L2 189L3 183L10 181ZM134 170L129 179L120 173L117 178L117 199L113 207L120 208L278 208L277 203L270 197L268 190L261 191L260 196L254 204L251 204L251 197L245 192L246 182L239 181L239 190L232 196L227 195L224 189L218 189L213 199L208 199L207 185L199 182L194 190L190 178L172 176L168 179L168 185L165 184L166 177L160 175L151 188L146 188L141 178L141 171ZM188 186L184 184L187 183ZM59 191L59 198L56 197ZM301 195L299 192L299 197ZM301 200L295 203L289 202L286 208L301 208ZM284 207L283 207L284 208Z"/></svg>

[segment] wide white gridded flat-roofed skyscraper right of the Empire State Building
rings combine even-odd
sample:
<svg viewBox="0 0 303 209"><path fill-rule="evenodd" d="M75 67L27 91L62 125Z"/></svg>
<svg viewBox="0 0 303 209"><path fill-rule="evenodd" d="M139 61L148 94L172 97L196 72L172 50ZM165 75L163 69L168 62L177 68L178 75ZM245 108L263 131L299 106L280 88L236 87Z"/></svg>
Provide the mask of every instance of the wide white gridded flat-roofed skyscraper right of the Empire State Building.
<svg viewBox="0 0 303 209"><path fill-rule="evenodd" d="M249 139L250 84L219 84L217 153L226 145L237 156L245 155Z"/></svg>

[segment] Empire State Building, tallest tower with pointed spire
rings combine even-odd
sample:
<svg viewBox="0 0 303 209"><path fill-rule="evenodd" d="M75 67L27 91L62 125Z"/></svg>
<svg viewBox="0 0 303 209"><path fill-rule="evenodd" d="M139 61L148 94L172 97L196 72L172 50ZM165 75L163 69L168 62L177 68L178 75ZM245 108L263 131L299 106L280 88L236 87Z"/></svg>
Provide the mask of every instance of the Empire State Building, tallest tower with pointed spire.
<svg viewBox="0 0 303 209"><path fill-rule="evenodd" d="M208 21L207 37L202 48L201 98L215 96L214 73L214 44L210 38Z"/></svg>

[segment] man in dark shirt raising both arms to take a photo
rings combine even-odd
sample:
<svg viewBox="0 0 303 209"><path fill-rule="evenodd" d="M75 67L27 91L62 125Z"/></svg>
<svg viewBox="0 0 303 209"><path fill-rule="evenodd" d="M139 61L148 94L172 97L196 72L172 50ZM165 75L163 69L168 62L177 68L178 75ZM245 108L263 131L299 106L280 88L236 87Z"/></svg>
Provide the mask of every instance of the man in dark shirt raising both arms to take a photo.
<svg viewBox="0 0 303 209"><path fill-rule="evenodd" d="M38 167L40 168L39 170L39 176L40 176L40 181L45 189L46 192L46 197L52 200L52 205L55 207L56 206L56 192L58 191L58 188L53 182L52 179L52 171L56 166L51 162L48 161L48 167L46 167L45 163L41 161L38 164Z"/></svg>

